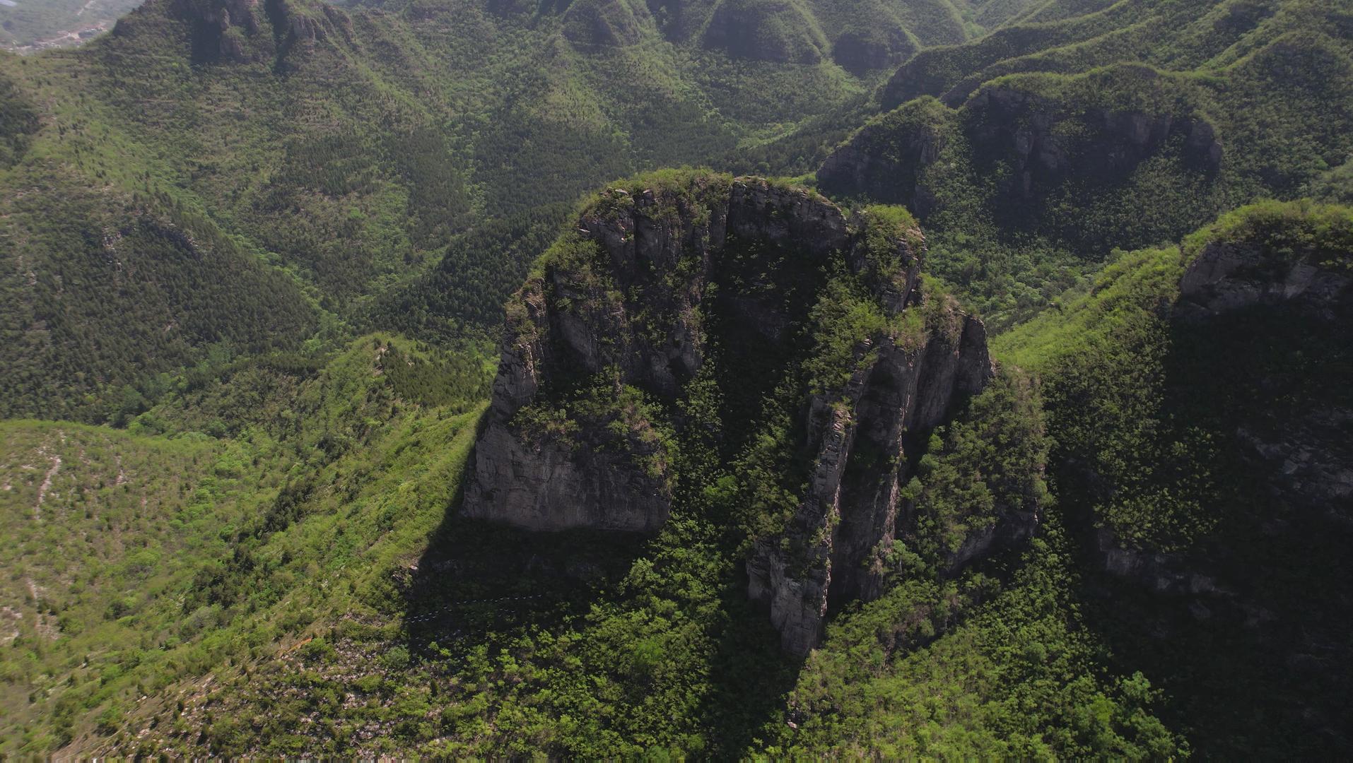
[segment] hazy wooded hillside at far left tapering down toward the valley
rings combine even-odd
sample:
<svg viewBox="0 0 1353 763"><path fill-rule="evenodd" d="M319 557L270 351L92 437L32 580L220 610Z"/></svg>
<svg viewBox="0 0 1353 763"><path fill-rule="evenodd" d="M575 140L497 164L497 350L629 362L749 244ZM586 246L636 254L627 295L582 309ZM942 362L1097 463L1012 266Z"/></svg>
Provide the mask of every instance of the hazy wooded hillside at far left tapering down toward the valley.
<svg viewBox="0 0 1353 763"><path fill-rule="evenodd" d="M303 283L229 235L78 60L7 58L37 130L0 166L7 415L101 421L126 384L229 352L296 348ZM101 396L100 396L101 395Z"/></svg>

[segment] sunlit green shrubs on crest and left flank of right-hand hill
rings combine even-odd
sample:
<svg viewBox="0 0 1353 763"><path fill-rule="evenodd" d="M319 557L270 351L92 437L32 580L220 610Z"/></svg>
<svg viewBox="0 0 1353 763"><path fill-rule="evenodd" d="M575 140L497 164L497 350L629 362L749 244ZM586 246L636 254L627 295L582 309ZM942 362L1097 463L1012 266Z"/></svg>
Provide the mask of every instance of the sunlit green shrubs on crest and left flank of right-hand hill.
<svg viewBox="0 0 1353 763"><path fill-rule="evenodd" d="M1219 496L1237 484L1220 479L1223 469L1245 471L1242 464L1227 467L1223 455L1223 444L1234 437L1229 423L1239 411L1246 404L1270 410L1288 404L1296 415L1339 396L1333 390L1342 342L1329 329L1303 329L1306 322L1285 317L1264 322L1262 340L1196 336L1170 321L1168 306L1178 299L1185 267L1208 245L1258 248L1275 271L1295 261L1346 269L1350 226L1346 207L1307 202L1245 207L1187 237L1181 249L1120 254L1089 295L996 341L999 356L1049 379L1051 432L1062 449L1055 460L1096 475L1076 482L1089 490L1097 522L1132 545L1191 547L1222 521ZM1247 318L1253 319L1260 318ZM1180 359L1185 352L1180 344L1193 356ZM1226 352L1243 359L1246 376L1284 377L1299 391L1276 396L1254 387L1219 390L1207 377L1233 365L1223 360ZM1321 360L1302 360L1298 369L1291 367L1293 354ZM1235 386L1234 379L1224 382ZM1243 395L1256 398L1245 403ZM1063 484L1066 490L1070 484Z"/></svg>

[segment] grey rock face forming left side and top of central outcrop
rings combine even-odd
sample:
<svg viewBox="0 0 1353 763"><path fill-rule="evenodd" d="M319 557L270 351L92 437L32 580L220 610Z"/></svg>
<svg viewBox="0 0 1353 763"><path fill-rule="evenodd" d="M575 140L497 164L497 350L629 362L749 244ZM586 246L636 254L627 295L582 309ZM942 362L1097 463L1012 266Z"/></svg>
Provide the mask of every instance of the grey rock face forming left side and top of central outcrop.
<svg viewBox="0 0 1353 763"><path fill-rule="evenodd" d="M821 261L848 239L840 210L802 191L759 180L694 183L609 191L513 299L467 515L537 530L653 530L666 521L670 486L632 459L637 440L616 441L594 418L578 426L586 448L566 452L557 433L528 432L518 414L602 373L620 387L678 399L705 361L702 303L729 237L793 246ZM763 300L721 302L766 340L787 340L786 315ZM625 456L599 455L607 448Z"/></svg>

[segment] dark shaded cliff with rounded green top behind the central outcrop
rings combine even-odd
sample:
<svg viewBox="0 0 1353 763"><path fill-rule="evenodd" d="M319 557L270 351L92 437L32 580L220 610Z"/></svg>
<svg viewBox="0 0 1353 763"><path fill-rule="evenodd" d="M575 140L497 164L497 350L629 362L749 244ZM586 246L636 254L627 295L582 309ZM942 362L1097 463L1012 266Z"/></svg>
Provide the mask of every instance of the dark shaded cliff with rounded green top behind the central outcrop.
<svg viewBox="0 0 1353 763"><path fill-rule="evenodd" d="M1123 65L997 80L955 104L924 96L861 127L823 161L817 181L832 195L905 204L923 221L976 204L1001 230L1077 250L1178 237L1215 215L1224 160L1191 88ZM1187 185L1196 214L1154 231L1115 219L1120 204L1139 204L1134 188L1150 173Z"/></svg>

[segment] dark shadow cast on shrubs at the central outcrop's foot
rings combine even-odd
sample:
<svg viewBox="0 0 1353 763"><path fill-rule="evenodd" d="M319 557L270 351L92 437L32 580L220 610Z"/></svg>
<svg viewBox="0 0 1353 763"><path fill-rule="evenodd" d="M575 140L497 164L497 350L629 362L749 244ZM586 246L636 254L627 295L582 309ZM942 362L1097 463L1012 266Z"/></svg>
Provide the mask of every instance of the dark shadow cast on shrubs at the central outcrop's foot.
<svg viewBox="0 0 1353 763"><path fill-rule="evenodd" d="M422 557L399 572L410 655L448 660L444 667L455 674L474 649L487 647L488 655L498 655L537 629L601 639L591 633L597 624L582 620L594 606L658 595L636 593L624 582L636 561L660 557L662 545L670 540L598 530L521 530L463 518L461 501L457 494ZM732 549L720 552L727 553ZM785 724L785 697L802 662L781 652L779 634L769 617L747 599L741 560L721 567L714 598L704 599L717 607L713 616L671 614L706 622L704 633L709 637L702 647L705 656L695 666L700 675L690 676L706 682L708 693L697 706L674 708L672 713L674 720L685 716L694 722L693 728L676 729L686 732L679 744L694 747L687 752L740 758L775 739L777 726ZM678 570L676 575L685 572ZM614 657L617 666L624 664L624 655ZM618 680L626 694L643 694L643 680L624 671L610 679ZM704 749L691 735L705 739Z"/></svg>

